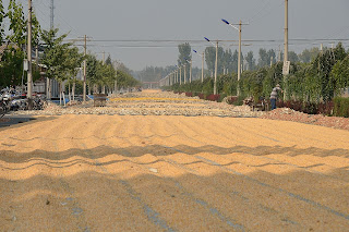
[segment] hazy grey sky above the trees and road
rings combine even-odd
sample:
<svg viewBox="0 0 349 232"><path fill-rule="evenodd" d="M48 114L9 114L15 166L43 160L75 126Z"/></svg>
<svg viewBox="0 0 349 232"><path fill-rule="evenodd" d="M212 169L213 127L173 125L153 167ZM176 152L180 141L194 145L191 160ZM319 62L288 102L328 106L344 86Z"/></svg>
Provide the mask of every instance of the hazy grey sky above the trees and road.
<svg viewBox="0 0 349 232"><path fill-rule="evenodd" d="M27 0L17 1L27 8ZM33 0L44 29L50 26L50 2ZM289 49L299 53L321 44L330 47L335 39L347 39L348 49L348 0L289 0ZM204 37L234 40L221 45L238 49L238 30L221 19L249 24L242 27L242 52L252 50L257 59L260 48L284 49L284 15L285 0L55 0L55 26L61 33L69 33L71 39L87 35L92 53L103 59L106 52L134 71L176 64L177 46L184 41L203 51L210 46ZM201 66L195 53L193 65Z"/></svg>

